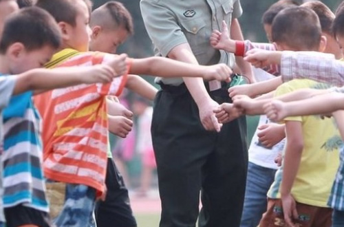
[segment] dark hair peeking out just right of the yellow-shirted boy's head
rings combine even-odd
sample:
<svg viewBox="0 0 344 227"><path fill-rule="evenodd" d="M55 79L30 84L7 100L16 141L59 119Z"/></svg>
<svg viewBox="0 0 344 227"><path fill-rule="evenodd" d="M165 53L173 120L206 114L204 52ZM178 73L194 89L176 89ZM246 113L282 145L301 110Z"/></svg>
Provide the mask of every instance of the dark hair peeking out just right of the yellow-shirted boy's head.
<svg viewBox="0 0 344 227"><path fill-rule="evenodd" d="M301 6L313 10L319 17L321 30L327 34L332 34L332 23L335 16L330 8L321 1L308 1Z"/></svg>

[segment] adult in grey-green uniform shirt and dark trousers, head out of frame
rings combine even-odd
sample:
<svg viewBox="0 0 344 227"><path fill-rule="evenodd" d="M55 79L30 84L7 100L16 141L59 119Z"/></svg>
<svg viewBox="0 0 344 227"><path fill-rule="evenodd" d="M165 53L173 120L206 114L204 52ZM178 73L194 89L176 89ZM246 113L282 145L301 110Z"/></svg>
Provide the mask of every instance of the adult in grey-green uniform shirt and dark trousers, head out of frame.
<svg viewBox="0 0 344 227"><path fill-rule="evenodd" d="M231 38L242 40L239 0L141 0L147 32L160 56L186 63L235 64L235 57L211 47L222 21ZM252 80L248 63L237 59ZM182 75L175 75L182 76ZM152 138L162 200L160 227L239 226L247 169L246 121L222 126L213 109L230 102L226 84L202 78L157 78ZM219 132L217 132L219 131Z"/></svg>

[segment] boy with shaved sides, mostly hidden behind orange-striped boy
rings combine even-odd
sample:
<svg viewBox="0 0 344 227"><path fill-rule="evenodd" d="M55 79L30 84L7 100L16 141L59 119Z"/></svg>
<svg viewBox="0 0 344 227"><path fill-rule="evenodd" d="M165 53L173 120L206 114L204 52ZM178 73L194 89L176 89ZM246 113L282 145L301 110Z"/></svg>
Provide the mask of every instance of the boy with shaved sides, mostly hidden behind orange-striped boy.
<svg viewBox="0 0 344 227"><path fill-rule="evenodd" d="M91 41L89 43L89 50L106 52L109 54L116 54L117 48L126 41L127 37L133 34L133 21L131 14L118 1L109 1L103 6L100 6L94 10L91 14L91 19L89 23L92 29ZM136 80L136 81L135 81ZM132 85L138 85L141 87L148 87L152 90L149 94L155 96L156 89L152 88L151 85L144 83L138 76L131 76L131 80L127 80L127 87L132 87ZM135 89L133 89L135 90ZM143 94L145 95L145 94ZM149 95L152 98L151 95ZM114 102L109 102L107 99L107 105L109 108L115 105ZM120 103L116 103L120 105ZM125 108L122 106L122 108ZM126 131L125 140L118 140L118 144L124 142L128 144L132 142L130 138L133 137L134 131L131 131L132 115L126 116L114 116L113 113L109 114L109 129L118 129L117 131ZM132 114L132 113L131 113ZM131 124L129 125L129 122ZM129 131L131 131L129 133ZM114 133L114 131L111 131ZM129 134L128 134L129 133ZM121 133L114 133L121 136ZM128 135L128 137L127 137ZM118 145L117 144L117 145ZM118 147L118 146L116 146ZM132 145L130 147L133 147ZM122 149L118 149L122 150ZM122 155L123 156L123 155ZM116 162L114 162L116 158ZM118 226L135 227L136 219L133 217L133 211L131 210L129 202L129 193L127 186L125 185L125 180L128 180L127 171L125 169L125 164L122 163L121 158L112 157L111 149L108 147L107 151L107 173L105 177L105 184L107 186L107 195L104 201L99 201L96 206L96 223L97 226L102 227L112 227L114 223ZM116 166L117 165L117 166Z"/></svg>

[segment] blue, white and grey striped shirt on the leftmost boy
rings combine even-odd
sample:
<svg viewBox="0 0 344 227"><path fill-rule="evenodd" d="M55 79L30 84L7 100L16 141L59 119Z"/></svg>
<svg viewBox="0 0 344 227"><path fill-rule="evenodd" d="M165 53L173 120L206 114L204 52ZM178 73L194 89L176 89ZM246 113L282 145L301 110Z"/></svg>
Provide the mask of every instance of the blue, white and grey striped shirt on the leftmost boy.
<svg viewBox="0 0 344 227"><path fill-rule="evenodd" d="M13 96L3 111L3 207L23 204L48 212L40 116L32 92Z"/></svg>

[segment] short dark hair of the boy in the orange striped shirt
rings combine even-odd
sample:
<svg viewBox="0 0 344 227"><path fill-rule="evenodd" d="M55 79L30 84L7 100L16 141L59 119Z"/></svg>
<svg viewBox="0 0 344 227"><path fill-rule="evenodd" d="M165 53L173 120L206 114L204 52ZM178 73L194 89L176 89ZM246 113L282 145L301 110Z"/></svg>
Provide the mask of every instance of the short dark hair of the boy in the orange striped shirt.
<svg viewBox="0 0 344 227"><path fill-rule="evenodd" d="M90 0L82 0L86 3L89 13L92 10L92 2ZM76 0L39 0L36 6L47 10L57 23L65 22L69 25L76 25L77 9Z"/></svg>

